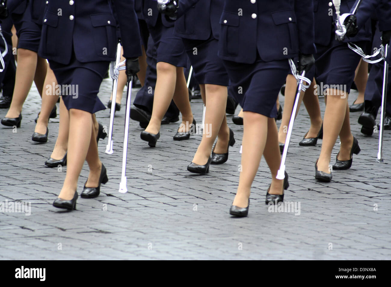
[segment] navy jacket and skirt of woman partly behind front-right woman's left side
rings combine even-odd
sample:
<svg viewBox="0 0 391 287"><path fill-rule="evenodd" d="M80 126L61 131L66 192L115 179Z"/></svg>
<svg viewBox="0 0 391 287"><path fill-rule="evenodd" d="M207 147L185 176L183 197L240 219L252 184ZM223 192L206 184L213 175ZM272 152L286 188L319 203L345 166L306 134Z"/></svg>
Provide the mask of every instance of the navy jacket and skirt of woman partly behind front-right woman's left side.
<svg viewBox="0 0 391 287"><path fill-rule="evenodd" d="M198 84L228 86L228 74L217 57L224 0L200 0L193 4L192 0L179 1L182 10L178 12L185 13L178 14L174 35L182 38Z"/></svg>

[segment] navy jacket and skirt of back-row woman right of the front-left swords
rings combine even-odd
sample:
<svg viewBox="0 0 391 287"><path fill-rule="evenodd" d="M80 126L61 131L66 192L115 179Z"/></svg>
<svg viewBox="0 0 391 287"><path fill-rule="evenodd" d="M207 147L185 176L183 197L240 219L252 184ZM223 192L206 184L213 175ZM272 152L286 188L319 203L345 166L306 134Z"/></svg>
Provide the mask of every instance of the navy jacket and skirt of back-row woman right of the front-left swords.
<svg viewBox="0 0 391 287"><path fill-rule="evenodd" d="M143 17L156 46L157 62L176 67L187 66L187 56L181 38L174 36L174 22L159 13L154 0L143 0Z"/></svg>

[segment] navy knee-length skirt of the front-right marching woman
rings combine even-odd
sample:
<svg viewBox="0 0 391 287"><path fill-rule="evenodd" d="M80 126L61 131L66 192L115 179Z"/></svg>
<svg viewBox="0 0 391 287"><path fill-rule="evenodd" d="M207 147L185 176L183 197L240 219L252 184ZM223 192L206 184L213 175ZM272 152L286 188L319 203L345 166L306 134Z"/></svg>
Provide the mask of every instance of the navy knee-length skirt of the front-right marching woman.
<svg viewBox="0 0 391 287"><path fill-rule="evenodd" d="M291 69L288 60L265 62L258 54L253 64L223 62L231 80L229 94L243 111L275 118L278 93Z"/></svg>

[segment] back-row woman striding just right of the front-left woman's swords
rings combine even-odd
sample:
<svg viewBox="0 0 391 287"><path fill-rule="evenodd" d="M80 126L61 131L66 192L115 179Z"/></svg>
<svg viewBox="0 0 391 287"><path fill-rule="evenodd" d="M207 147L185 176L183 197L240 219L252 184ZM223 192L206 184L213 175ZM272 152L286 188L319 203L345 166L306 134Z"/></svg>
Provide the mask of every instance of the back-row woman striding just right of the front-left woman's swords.
<svg viewBox="0 0 391 287"><path fill-rule="evenodd" d="M187 66L187 56L182 39L173 35L174 23L167 21L164 15L160 14L156 1L144 0L143 14L156 47L157 79L152 116L140 137L143 141L147 141L149 146L154 147L160 137L161 120L171 100L174 100L182 113L182 123L174 135L174 140L188 139L190 132L194 130L194 128L190 130L190 126L195 125L195 120L183 73L183 67Z"/></svg>

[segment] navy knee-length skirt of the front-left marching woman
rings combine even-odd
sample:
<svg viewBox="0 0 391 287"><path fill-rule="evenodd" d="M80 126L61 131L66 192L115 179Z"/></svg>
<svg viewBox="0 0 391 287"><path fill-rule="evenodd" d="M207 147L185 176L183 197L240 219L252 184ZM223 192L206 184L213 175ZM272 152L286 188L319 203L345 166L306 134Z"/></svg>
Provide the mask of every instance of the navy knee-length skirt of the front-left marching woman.
<svg viewBox="0 0 391 287"><path fill-rule="evenodd" d="M77 109L91 114L106 109L98 98L98 92L109 64L108 61L82 63L76 59L75 53L72 53L71 61L67 65L49 61L61 88L66 109Z"/></svg>

